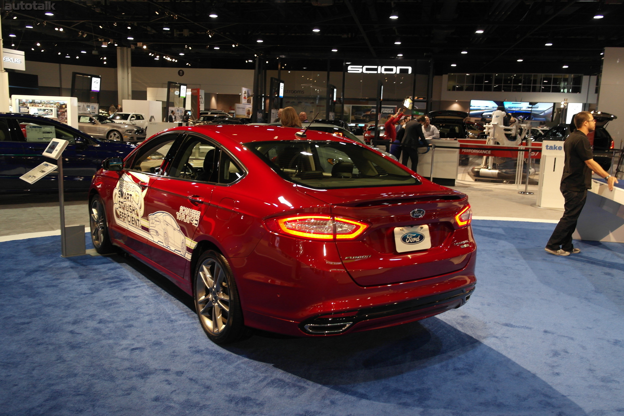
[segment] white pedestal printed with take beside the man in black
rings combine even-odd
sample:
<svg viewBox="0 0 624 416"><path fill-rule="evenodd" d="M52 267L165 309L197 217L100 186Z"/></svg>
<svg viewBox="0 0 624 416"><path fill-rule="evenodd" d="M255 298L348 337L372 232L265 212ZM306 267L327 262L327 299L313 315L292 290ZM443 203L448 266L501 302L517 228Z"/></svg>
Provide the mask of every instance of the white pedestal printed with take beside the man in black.
<svg viewBox="0 0 624 416"><path fill-rule="evenodd" d="M542 142L542 158L540 159L540 178L537 188L537 208L563 211L563 195L559 190L565 152L563 142L545 140Z"/></svg>

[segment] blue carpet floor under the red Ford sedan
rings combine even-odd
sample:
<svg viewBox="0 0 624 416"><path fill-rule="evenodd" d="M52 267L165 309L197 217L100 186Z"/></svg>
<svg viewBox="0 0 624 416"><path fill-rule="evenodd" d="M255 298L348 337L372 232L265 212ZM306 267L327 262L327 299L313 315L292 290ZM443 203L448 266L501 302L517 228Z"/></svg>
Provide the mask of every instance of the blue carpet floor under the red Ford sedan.
<svg viewBox="0 0 624 416"><path fill-rule="evenodd" d="M0 243L0 415L624 415L624 244L544 251L546 223L474 221L466 306L331 339L218 347L135 259Z"/></svg>

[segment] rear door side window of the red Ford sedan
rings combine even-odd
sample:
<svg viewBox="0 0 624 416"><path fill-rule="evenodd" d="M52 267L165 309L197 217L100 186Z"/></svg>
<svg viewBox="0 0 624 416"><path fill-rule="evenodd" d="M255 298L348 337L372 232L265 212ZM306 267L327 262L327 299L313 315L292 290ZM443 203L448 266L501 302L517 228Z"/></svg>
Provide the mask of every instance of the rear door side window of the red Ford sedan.
<svg viewBox="0 0 624 416"><path fill-rule="evenodd" d="M201 182L217 182L220 148L203 138L187 135L173 157L167 176Z"/></svg>

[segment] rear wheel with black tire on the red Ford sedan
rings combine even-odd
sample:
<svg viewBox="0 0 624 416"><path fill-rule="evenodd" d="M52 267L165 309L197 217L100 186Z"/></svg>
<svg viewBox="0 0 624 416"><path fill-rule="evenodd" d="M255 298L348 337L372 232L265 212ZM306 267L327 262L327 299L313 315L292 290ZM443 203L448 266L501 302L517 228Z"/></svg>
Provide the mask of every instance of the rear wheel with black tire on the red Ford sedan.
<svg viewBox="0 0 624 416"><path fill-rule="evenodd" d="M238 289L223 254L213 250L202 253L193 283L195 311L208 338L215 344L230 344L245 338L248 329L243 321Z"/></svg>

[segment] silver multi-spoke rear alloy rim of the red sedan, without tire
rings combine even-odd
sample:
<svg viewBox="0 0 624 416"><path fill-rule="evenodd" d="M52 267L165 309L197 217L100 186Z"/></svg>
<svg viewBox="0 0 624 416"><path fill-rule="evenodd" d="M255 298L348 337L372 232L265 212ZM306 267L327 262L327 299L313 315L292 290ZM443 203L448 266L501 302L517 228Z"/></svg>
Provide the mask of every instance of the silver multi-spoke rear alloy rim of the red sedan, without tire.
<svg viewBox="0 0 624 416"><path fill-rule="evenodd" d="M200 321L212 335L223 332L230 317L230 288L227 271L219 261L208 258L197 270L195 296L197 299Z"/></svg>

